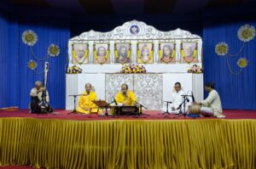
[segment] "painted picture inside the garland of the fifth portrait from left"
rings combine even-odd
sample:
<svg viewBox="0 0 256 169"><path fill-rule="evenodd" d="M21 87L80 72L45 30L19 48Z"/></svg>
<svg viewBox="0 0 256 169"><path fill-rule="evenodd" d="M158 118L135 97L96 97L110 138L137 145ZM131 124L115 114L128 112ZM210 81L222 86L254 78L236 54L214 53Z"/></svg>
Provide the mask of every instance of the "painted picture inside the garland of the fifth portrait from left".
<svg viewBox="0 0 256 169"><path fill-rule="evenodd" d="M174 48L173 42L163 42L160 45L162 50L162 56L160 56L160 63L175 63L175 54L172 56L172 51Z"/></svg>

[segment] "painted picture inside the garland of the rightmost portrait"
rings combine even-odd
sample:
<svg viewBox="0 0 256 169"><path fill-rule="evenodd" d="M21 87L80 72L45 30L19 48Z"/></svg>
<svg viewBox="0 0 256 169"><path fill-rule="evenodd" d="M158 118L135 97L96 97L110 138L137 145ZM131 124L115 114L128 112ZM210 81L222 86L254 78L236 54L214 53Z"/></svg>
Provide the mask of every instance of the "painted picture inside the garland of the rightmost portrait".
<svg viewBox="0 0 256 169"><path fill-rule="evenodd" d="M196 48L196 42L183 42L184 58L182 57L182 62L196 63L198 62L197 54L193 58L193 54Z"/></svg>

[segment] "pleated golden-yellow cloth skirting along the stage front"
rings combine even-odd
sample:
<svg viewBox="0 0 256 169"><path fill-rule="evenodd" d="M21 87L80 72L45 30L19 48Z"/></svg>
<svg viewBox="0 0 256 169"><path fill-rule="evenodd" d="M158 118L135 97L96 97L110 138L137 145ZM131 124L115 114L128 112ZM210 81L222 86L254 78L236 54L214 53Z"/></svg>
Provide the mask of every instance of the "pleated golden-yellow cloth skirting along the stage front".
<svg viewBox="0 0 256 169"><path fill-rule="evenodd" d="M0 166L256 168L255 120L0 119Z"/></svg>

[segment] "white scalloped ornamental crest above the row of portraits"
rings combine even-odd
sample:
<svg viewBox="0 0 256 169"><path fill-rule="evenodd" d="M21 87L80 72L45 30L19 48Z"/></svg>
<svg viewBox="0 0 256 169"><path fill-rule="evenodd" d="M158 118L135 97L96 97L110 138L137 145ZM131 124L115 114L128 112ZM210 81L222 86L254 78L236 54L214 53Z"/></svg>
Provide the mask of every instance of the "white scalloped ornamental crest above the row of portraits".
<svg viewBox="0 0 256 169"><path fill-rule="evenodd" d="M137 25L139 31L137 34L131 33L131 27ZM73 37L70 41L116 41L116 40L178 40L178 39L197 39L201 37L191 34L189 31L184 31L177 28L174 31L159 31L152 25L147 25L142 21L131 20L125 22L113 29L113 31L100 32L100 31L87 31L80 34L78 37Z"/></svg>

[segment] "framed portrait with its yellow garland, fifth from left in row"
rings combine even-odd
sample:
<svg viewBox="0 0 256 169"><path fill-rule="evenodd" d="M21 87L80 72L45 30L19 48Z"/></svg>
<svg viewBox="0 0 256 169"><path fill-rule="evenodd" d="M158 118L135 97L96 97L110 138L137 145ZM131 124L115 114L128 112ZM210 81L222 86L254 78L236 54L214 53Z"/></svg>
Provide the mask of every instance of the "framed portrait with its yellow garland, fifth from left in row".
<svg viewBox="0 0 256 169"><path fill-rule="evenodd" d="M176 63L176 44L175 42L160 42L159 61L161 64Z"/></svg>

